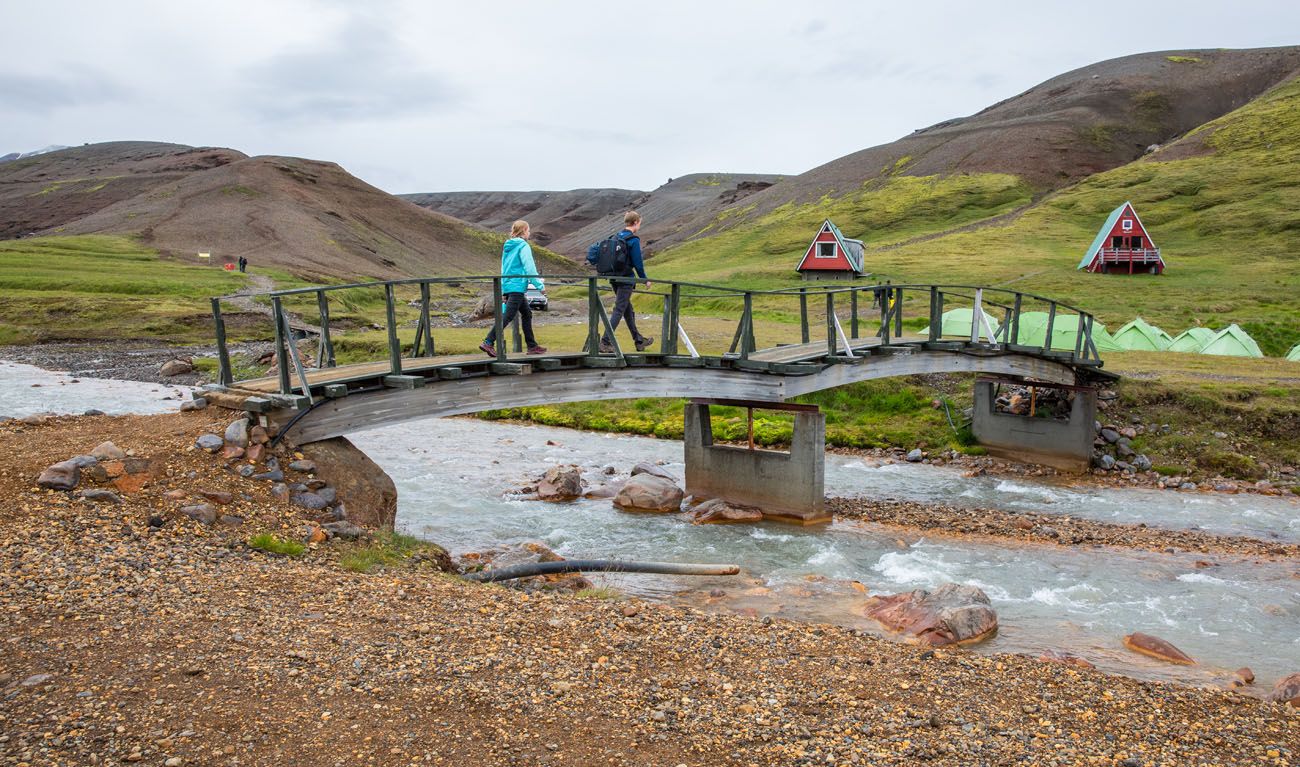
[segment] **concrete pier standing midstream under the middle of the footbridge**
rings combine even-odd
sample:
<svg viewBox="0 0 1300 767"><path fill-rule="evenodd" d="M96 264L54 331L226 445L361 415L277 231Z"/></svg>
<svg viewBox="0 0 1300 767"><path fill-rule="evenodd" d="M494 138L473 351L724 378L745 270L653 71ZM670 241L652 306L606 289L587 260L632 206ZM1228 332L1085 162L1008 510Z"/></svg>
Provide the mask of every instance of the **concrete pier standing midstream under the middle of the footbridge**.
<svg viewBox="0 0 1300 767"><path fill-rule="evenodd" d="M789 452L714 445L710 404L794 411ZM794 524L831 521L826 510L826 416L814 406L746 400L692 400L685 412L686 493L763 510ZM751 434L753 437L753 434Z"/></svg>

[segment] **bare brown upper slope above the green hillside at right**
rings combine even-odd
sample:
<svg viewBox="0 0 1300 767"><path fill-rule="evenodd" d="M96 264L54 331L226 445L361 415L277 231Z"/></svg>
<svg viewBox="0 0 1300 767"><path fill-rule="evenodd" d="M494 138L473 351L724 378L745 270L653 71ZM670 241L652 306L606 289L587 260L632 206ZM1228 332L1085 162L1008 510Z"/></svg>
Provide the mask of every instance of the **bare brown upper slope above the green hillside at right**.
<svg viewBox="0 0 1300 767"><path fill-rule="evenodd" d="M858 192L894 174L1008 173L1043 194L1131 162L1152 144L1175 140L1297 72L1295 46L1161 51L1101 61L970 117L918 129L780 181L732 203L725 222L715 211L701 209L659 233L659 244L716 234L786 203Z"/></svg>

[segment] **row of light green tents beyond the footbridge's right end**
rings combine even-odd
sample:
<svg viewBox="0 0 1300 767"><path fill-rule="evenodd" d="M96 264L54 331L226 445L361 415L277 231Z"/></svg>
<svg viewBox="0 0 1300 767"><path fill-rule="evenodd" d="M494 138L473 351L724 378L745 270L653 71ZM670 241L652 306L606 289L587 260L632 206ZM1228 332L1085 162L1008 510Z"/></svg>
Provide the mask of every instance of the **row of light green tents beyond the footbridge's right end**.
<svg viewBox="0 0 1300 767"><path fill-rule="evenodd" d="M979 329L980 335L987 337L989 330L996 335L1001 329L997 318L988 312L982 313L984 315L987 326L982 324ZM944 312L942 322L940 324L941 335L970 338L972 316L974 308L957 308ZM1046 328L1046 312L1022 312L1015 343L1020 346L1044 346ZM923 329L920 333L923 335L928 334L930 328ZM1074 350L1078 341L1079 316L1057 315L1052 322L1052 348ZM1238 358L1264 356L1264 352L1260 351L1260 344L1236 325L1228 325L1218 332L1209 328L1191 328L1175 337L1170 337L1169 333L1165 333L1141 317L1128 322L1114 334L1108 333L1106 326L1101 322L1093 321L1092 343L1097 347L1098 352L1182 351ZM1300 361L1300 343L1287 354L1287 359Z"/></svg>

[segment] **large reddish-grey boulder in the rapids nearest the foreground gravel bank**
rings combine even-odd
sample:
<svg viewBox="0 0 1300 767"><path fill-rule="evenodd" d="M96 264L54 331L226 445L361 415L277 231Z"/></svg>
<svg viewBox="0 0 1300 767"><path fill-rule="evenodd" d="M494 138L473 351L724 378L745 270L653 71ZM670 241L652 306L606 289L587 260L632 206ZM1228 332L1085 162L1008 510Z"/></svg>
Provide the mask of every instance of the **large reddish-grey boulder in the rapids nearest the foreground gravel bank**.
<svg viewBox="0 0 1300 767"><path fill-rule="evenodd" d="M933 592L872 597L867 618L931 646L978 642L997 633L997 614L976 586L944 584Z"/></svg>

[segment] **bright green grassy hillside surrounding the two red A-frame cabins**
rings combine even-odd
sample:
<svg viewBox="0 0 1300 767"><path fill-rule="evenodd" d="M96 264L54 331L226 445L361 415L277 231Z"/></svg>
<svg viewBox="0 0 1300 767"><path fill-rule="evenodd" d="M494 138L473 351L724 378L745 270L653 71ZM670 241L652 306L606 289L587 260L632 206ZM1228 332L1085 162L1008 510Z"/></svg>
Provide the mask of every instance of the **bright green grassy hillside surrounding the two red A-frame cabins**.
<svg viewBox="0 0 1300 767"><path fill-rule="evenodd" d="M1167 272L1078 272L1096 230L1124 200L1162 248ZM866 240L874 278L1009 286L1075 303L1112 326L1138 315L1170 333L1238 322L1266 354L1284 354L1300 342L1300 81L1037 202L1005 174L893 174L852 194L784 205L742 229L706 231L656 257L653 270L750 287L794 283L794 265L827 217Z"/></svg>

